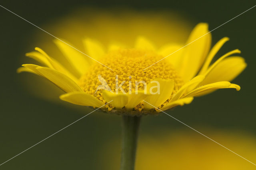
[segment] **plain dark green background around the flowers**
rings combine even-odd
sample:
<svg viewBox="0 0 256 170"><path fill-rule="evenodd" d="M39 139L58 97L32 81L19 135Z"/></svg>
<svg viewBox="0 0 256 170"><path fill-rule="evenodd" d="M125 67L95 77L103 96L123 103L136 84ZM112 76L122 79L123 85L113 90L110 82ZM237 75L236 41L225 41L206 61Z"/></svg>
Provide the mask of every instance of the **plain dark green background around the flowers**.
<svg viewBox="0 0 256 170"><path fill-rule="evenodd" d="M251 1L194 0L194 1L1 1L2 6L26 20L43 26L55 18L68 14L76 7L124 7L135 10L174 10L187 16L191 23L208 22L210 30L256 5ZM206 128L219 130L243 130L256 136L255 72L256 72L256 8L214 30L213 43L223 36L230 37L221 54L235 48L242 50L248 63L246 70L233 82L241 86L235 90L218 90L213 94L196 98L192 104L169 111L172 116L200 132ZM50 134L74 122L92 109L64 107L35 98L21 81L25 74L16 74L21 58L31 51L33 36L41 30L0 8L0 55L1 55L1 100L0 100L0 164ZM47 30L51 32L51 30ZM45 34L46 38L51 38ZM56 96L57 97L57 96ZM120 116L94 112L62 132L52 136L32 149L0 166L4 170L55 170L90 169L102 170L99 159L104 143L120 138ZM170 117L145 116L140 134L171 131L186 128ZM196 132L194 132L195 135ZM207 134L211 136L211 134ZM221 142L221 141L220 141ZM120 149L120 146L116 146ZM118 166L117 166L118 167Z"/></svg>

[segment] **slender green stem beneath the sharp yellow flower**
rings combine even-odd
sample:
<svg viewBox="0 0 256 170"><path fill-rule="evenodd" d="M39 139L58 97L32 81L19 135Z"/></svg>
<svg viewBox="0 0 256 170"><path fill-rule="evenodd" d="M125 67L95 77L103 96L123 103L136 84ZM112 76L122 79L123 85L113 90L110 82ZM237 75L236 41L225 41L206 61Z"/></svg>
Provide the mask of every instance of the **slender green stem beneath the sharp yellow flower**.
<svg viewBox="0 0 256 170"><path fill-rule="evenodd" d="M134 170L140 117L122 117L122 153L120 170Z"/></svg>

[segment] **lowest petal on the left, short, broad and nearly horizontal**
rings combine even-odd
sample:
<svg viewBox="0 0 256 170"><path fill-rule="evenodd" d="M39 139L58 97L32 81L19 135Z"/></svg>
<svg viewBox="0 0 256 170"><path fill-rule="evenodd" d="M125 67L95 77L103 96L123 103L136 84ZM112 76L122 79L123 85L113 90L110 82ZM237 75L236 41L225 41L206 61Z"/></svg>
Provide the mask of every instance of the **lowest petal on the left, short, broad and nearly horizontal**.
<svg viewBox="0 0 256 170"><path fill-rule="evenodd" d="M101 107L104 103L90 94L85 92L70 92L67 94L62 94L60 96L61 100L70 102L72 104L82 105L82 106L92 106L92 107ZM104 107L104 106L103 106Z"/></svg>

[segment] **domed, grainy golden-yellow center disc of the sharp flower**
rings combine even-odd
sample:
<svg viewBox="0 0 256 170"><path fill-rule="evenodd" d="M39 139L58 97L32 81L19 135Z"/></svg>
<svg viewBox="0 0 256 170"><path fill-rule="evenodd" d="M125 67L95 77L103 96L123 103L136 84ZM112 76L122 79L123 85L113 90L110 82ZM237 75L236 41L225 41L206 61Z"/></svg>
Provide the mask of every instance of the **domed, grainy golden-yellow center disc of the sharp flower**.
<svg viewBox="0 0 256 170"><path fill-rule="evenodd" d="M116 80L118 80L118 86L120 87L118 91L123 89L127 93L136 89L144 90L144 84L138 84L138 82L148 84L155 78L172 79L174 80L173 93L175 93L183 82L173 66L166 60L160 61L143 71L144 68L161 58L163 56L146 50L120 49L112 51L100 60L102 64L112 70L102 64L95 63L81 76L79 85L84 92L94 95L103 102L105 101L102 98L101 89L97 90L97 87L108 86L112 92L116 92Z"/></svg>

